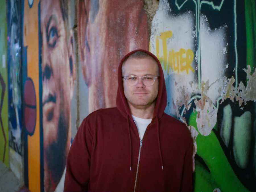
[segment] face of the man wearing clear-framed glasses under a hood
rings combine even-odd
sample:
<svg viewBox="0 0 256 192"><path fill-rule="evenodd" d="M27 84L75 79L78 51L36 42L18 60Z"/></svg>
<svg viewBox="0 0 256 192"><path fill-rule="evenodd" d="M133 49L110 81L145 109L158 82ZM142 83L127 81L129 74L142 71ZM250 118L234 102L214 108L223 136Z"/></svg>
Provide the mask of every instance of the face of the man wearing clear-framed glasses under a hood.
<svg viewBox="0 0 256 192"><path fill-rule="evenodd" d="M123 65L123 76L158 76L158 65L150 56L142 59L129 58ZM128 104L135 108L143 109L155 103L158 94L158 79L151 86L145 86L141 78L139 78L135 86L130 86L127 80L123 80L123 88Z"/></svg>

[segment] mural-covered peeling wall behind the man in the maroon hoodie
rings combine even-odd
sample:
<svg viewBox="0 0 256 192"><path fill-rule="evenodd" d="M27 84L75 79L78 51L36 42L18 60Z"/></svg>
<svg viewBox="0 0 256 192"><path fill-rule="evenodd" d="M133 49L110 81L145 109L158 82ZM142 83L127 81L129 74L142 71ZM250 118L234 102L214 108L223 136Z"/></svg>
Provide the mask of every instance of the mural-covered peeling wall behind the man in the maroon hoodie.
<svg viewBox="0 0 256 192"><path fill-rule="evenodd" d="M115 106L117 66L137 48L159 58L165 112L192 133L195 191L256 190L255 1L10 0L6 11L10 165L30 191L63 190L81 121Z"/></svg>

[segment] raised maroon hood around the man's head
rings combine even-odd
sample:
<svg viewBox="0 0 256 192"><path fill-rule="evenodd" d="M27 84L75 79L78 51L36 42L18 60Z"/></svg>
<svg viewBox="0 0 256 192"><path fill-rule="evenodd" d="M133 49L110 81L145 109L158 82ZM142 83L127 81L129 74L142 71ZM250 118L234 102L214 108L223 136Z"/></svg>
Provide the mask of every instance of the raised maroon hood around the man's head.
<svg viewBox="0 0 256 192"><path fill-rule="evenodd" d="M127 100L125 98L124 91L123 91L122 64L123 64L123 61L125 61L125 59L127 57L129 57L129 55L131 55L132 53L135 53L137 51L143 51L145 53L148 53L156 60L156 62L158 64L159 86L158 86L158 95L156 98L156 105L155 105L155 109L154 109L153 119L154 119L154 117L157 117L157 119L160 119L162 117L162 115L164 114L164 109L166 107L166 102L167 102L166 87L165 87L165 82L164 82L164 73L163 73L163 69L162 69L161 64L160 64L159 60L157 59L157 57L153 53L150 53L149 51L146 51L144 49L137 49L137 50L131 51L130 53L128 53L127 55L125 55L123 57L123 59L121 60L121 62L119 64L118 77L117 77L118 78L118 89L117 89L117 97L116 97L116 106L117 106L118 110L122 113L122 115L124 115L125 117L127 117L127 115L131 117L131 110L129 108L129 105L127 103Z"/></svg>

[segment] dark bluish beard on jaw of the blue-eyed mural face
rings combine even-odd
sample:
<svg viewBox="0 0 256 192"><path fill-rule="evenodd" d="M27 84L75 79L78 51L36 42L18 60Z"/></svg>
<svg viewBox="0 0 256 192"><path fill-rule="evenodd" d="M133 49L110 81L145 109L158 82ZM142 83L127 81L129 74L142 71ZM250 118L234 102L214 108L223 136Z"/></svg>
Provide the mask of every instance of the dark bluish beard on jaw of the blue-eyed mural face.
<svg viewBox="0 0 256 192"><path fill-rule="evenodd" d="M66 166L69 115L65 117L63 111L60 113L57 129L57 142L49 144L49 146L44 149L44 159L46 160L47 167L44 169L47 169L47 172L45 170L45 173L48 173L48 176L45 176L46 191L55 190Z"/></svg>

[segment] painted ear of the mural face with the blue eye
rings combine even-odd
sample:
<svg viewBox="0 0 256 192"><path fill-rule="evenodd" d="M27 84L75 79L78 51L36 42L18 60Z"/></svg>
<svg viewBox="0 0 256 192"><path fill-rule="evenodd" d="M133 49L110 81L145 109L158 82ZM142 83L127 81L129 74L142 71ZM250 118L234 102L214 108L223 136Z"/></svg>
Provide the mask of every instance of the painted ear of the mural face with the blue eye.
<svg viewBox="0 0 256 192"><path fill-rule="evenodd" d="M71 91L70 100L72 100L74 84L76 79L76 65L75 65L76 59L74 54L74 36L73 36L72 29L69 31L68 53L69 53L69 70L70 70L69 87Z"/></svg>

